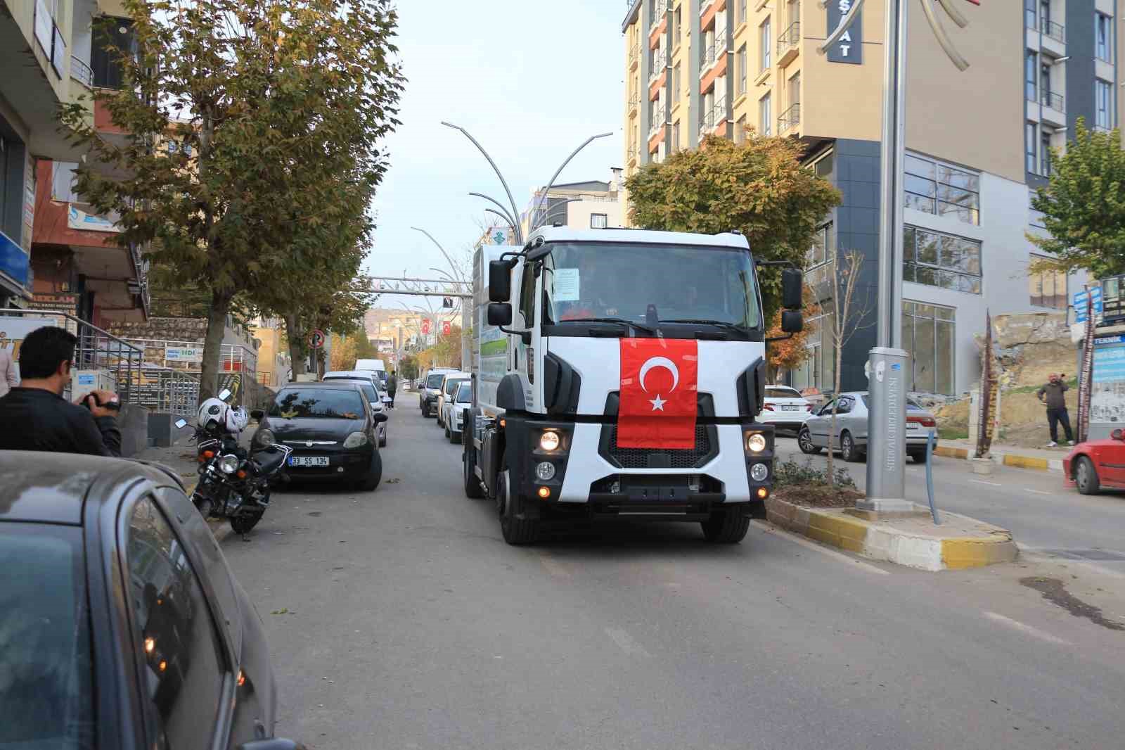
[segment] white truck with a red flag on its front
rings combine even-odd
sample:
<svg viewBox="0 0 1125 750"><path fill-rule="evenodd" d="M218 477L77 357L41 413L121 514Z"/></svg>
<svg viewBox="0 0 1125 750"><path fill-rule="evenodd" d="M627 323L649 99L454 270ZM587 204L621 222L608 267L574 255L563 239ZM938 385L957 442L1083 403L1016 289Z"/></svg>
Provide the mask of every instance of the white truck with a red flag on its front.
<svg viewBox="0 0 1125 750"><path fill-rule="evenodd" d="M801 273L782 274L801 329ZM765 517L765 331L746 239L543 227L474 259L469 498L508 544L546 523L700 521L737 543Z"/></svg>

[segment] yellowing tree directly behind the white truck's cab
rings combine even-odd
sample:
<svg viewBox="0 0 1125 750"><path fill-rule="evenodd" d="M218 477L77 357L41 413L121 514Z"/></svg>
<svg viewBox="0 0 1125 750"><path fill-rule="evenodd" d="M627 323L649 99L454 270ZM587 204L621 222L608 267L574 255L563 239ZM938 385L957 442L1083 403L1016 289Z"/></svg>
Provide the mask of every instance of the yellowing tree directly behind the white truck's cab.
<svg viewBox="0 0 1125 750"><path fill-rule="evenodd" d="M738 230L758 260L804 265L817 227L840 202L827 180L801 167L803 146L750 135L745 143L706 136L626 180L632 222L646 229L714 234ZM766 320L781 307L781 270L762 268Z"/></svg>

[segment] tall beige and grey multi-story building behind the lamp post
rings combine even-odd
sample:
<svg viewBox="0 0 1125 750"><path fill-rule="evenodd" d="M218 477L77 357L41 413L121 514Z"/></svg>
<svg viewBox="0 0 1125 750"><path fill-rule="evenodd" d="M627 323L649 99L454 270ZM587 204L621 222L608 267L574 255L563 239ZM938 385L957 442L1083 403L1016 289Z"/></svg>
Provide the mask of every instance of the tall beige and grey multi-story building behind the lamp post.
<svg viewBox="0 0 1125 750"><path fill-rule="evenodd" d="M1042 231L1029 199L1046 184L1051 149L1065 149L1079 117L1091 128L1117 126L1117 61L1125 55L1115 0L956 2L969 26L946 26L968 71L951 64L914 3L907 44L902 339L911 390L937 394L962 393L979 380L974 337L987 311L1065 311L1084 280L1028 273L1035 251L1026 233ZM809 269L830 276L835 250L862 252L857 296L871 309L884 3L867 0L848 34L818 52L849 5L634 0L622 26L626 169L712 133L740 141L753 128L798 139L807 166L844 196L825 217ZM824 322L810 321L813 351L790 374L795 385L831 387ZM845 389L866 387L875 337L866 322L845 346Z"/></svg>

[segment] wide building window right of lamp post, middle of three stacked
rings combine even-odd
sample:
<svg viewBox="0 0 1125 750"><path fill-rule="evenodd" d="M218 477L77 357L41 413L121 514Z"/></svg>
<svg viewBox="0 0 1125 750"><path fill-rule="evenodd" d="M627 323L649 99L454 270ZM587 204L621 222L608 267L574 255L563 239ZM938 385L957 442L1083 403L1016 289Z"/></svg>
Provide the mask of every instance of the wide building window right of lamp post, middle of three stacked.
<svg viewBox="0 0 1125 750"><path fill-rule="evenodd" d="M981 293L980 242L917 226L907 226L903 233L903 282Z"/></svg>

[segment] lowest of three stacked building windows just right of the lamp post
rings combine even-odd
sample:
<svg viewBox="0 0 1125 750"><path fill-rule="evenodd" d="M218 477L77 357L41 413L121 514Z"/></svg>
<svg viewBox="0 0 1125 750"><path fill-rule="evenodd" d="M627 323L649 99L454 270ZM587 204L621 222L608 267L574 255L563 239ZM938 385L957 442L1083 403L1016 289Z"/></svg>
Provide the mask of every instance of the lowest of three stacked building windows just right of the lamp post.
<svg viewBox="0 0 1125 750"><path fill-rule="evenodd" d="M907 360L907 391L952 395L956 310L902 301L902 348Z"/></svg>

